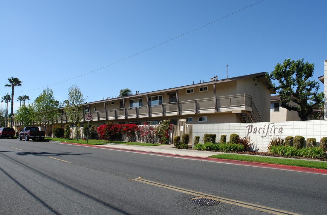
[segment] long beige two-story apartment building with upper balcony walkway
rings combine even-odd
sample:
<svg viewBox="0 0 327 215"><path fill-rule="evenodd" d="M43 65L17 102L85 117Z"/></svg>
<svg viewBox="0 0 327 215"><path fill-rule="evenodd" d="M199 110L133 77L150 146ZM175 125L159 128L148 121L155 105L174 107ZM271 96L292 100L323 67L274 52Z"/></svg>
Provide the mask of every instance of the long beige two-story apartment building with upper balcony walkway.
<svg viewBox="0 0 327 215"><path fill-rule="evenodd" d="M167 119L173 124L180 119L189 124L269 122L270 94L275 92L267 89L265 74L213 77L209 82L88 102L83 104L81 124L87 123L87 113L92 113L90 123L95 125L158 124ZM63 111L58 121L68 123Z"/></svg>

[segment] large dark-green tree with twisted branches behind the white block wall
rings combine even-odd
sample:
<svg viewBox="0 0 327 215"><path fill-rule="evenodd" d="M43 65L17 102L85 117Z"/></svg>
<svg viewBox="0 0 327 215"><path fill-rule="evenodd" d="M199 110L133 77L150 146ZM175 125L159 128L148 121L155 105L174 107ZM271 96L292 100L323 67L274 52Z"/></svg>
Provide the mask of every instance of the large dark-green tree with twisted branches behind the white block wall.
<svg viewBox="0 0 327 215"><path fill-rule="evenodd" d="M278 63L275 70L267 74L268 78L277 81L277 84L268 84L269 88L279 94L281 106L287 110L297 111L302 121L307 120L309 114L322 101L318 96L318 82L309 80L313 71L313 63L288 58L283 64Z"/></svg>

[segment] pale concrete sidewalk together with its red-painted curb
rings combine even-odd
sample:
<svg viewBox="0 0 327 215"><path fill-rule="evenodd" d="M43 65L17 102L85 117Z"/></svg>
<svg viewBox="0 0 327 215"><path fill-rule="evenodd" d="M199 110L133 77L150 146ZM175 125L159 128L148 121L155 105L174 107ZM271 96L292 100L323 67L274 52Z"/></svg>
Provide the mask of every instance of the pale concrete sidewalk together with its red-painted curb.
<svg viewBox="0 0 327 215"><path fill-rule="evenodd" d="M281 170L327 175L327 170L322 170L322 169L312 169L306 167L294 167L294 166L284 166L284 165L277 165L277 164L210 158L209 156L212 155L227 154L227 153L207 152L207 151L198 151L198 150L190 150L190 149L176 149L174 145L139 146L139 145L125 145L125 144L117 144L117 143L109 143L104 145L86 145L86 144L58 142L58 141L50 141L50 142L78 145L78 146L85 146L85 147L103 148L103 149L110 149L110 150L127 151L127 152L134 152L134 153L160 155L160 156L167 156L167 157L179 157L179 158L186 158L186 159L195 159L195 160L203 160L203 161L211 161L211 162L229 163L229 164L237 164L237 165L245 165L245 166L254 166L254 167L263 167L263 168L272 168L272 169L281 169ZM261 157L267 157L267 156L261 156ZM274 158L293 159L293 158L284 158L284 157L283 158L274 157ZM321 162L325 162L327 165L326 161L321 161Z"/></svg>

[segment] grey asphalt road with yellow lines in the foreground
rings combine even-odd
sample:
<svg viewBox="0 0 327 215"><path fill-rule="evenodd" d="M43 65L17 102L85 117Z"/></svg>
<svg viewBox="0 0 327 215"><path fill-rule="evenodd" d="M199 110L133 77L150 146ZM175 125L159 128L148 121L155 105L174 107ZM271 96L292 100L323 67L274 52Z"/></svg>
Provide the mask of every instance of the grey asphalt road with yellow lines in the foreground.
<svg viewBox="0 0 327 215"><path fill-rule="evenodd" d="M0 140L0 182L0 214L318 215L327 202L326 175L15 139Z"/></svg>

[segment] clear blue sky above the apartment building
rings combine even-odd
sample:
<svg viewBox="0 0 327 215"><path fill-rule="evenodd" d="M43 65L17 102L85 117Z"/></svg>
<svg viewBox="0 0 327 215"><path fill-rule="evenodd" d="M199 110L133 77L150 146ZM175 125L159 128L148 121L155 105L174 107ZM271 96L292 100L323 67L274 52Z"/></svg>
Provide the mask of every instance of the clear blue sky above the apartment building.
<svg viewBox="0 0 327 215"><path fill-rule="evenodd" d="M4 87L11 76L22 81L16 110L18 96L32 102L47 86L62 102L76 84L93 102L123 88L143 93L223 79L227 64L229 77L271 72L287 58L314 63L318 81L327 59L326 2L257 2L3 0L0 96L11 93Z"/></svg>

